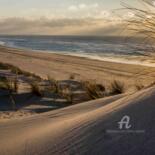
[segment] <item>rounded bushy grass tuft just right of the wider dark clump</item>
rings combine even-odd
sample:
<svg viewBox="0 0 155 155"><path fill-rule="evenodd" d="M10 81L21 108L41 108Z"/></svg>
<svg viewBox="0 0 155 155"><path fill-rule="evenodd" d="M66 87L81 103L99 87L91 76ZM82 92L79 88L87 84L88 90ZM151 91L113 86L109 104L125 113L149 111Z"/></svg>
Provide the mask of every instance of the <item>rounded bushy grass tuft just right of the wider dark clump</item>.
<svg viewBox="0 0 155 155"><path fill-rule="evenodd" d="M122 94L125 91L124 83L118 80L114 80L111 83L111 92L110 94L116 95L116 94Z"/></svg>

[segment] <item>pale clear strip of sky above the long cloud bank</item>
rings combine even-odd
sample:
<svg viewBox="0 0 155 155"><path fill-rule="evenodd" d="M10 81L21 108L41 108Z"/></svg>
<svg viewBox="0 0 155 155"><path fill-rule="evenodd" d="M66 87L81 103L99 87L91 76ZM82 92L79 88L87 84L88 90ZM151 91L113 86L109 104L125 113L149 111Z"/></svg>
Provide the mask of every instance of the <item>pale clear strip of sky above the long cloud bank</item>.
<svg viewBox="0 0 155 155"><path fill-rule="evenodd" d="M120 0L0 0L1 17L75 15L119 8ZM73 13L74 12L74 13Z"/></svg>

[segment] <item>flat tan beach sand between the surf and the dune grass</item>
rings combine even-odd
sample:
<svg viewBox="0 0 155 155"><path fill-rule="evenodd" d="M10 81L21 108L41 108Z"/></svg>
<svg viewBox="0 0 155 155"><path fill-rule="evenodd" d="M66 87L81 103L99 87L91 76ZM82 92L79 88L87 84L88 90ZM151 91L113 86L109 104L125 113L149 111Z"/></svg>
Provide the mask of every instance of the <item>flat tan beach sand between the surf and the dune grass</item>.
<svg viewBox="0 0 155 155"><path fill-rule="evenodd" d="M96 80L109 83L124 81L127 85L154 81L155 67L91 60L87 58L46 52L32 52L0 46L0 62L10 63L21 69L47 78L66 80L71 75L76 79ZM127 86L128 87L128 86Z"/></svg>

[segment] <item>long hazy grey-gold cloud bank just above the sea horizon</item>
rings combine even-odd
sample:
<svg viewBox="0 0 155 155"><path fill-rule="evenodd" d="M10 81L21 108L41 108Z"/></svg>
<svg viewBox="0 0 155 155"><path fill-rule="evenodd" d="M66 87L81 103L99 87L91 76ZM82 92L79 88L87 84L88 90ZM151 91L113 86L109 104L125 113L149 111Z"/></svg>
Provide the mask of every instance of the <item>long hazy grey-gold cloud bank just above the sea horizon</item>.
<svg viewBox="0 0 155 155"><path fill-rule="evenodd" d="M116 27L116 28L115 28ZM102 19L7 18L0 20L0 34L111 35L117 24ZM119 28L120 29L120 28Z"/></svg>

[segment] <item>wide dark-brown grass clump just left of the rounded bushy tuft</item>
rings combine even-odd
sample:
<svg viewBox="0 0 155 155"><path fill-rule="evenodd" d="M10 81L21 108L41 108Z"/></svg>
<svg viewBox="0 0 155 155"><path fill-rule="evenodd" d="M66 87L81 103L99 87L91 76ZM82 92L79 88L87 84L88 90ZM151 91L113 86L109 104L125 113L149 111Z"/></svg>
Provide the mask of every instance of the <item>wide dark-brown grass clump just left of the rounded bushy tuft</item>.
<svg viewBox="0 0 155 155"><path fill-rule="evenodd" d="M82 85L91 99L102 98L105 96L105 86L101 84L96 84L93 81L84 81L82 82Z"/></svg>

